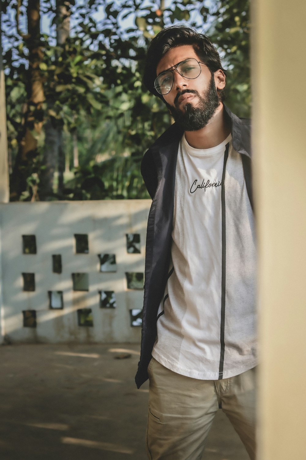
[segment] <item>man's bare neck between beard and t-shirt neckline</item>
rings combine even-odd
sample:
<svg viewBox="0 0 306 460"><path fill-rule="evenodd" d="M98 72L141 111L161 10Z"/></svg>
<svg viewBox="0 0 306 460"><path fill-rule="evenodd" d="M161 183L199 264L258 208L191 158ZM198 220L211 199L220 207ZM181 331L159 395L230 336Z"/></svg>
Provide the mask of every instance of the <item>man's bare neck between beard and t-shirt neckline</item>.
<svg viewBox="0 0 306 460"><path fill-rule="evenodd" d="M223 104L220 103L209 123L198 131L185 131L185 138L195 149L210 149L221 144L230 132L230 123L225 116Z"/></svg>

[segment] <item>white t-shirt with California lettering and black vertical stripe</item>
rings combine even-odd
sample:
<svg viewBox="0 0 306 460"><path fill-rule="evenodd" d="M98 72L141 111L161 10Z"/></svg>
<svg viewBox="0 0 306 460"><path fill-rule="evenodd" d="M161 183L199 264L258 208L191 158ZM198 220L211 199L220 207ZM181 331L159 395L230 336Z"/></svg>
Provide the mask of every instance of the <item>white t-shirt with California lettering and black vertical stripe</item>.
<svg viewBox="0 0 306 460"><path fill-rule="evenodd" d="M231 136L203 150L192 148L183 136L171 255L152 356L178 374L204 380L254 367L254 222L241 157Z"/></svg>

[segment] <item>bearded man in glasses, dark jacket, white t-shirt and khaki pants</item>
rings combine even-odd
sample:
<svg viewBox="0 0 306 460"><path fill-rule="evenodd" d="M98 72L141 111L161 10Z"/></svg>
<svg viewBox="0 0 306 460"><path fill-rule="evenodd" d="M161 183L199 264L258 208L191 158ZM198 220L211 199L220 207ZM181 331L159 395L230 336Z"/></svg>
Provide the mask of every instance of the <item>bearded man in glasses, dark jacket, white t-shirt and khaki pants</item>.
<svg viewBox="0 0 306 460"><path fill-rule="evenodd" d="M176 121L145 153L141 355L149 459L201 459L222 408L255 459L255 238L250 123L223 104L210 40L185 26L150 43L144 83Z"/></svg>

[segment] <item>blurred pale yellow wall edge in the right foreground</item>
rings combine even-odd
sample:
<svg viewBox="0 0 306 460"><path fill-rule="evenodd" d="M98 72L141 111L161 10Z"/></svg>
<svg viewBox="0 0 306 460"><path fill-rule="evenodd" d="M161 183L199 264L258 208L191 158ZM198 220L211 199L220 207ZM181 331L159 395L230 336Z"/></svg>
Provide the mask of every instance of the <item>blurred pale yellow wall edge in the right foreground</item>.
<svg viewBox="0 0 306 460"><path fill-rule="evenodd" d="M306 459L306 1L253 0L258 460Z"/></svg>

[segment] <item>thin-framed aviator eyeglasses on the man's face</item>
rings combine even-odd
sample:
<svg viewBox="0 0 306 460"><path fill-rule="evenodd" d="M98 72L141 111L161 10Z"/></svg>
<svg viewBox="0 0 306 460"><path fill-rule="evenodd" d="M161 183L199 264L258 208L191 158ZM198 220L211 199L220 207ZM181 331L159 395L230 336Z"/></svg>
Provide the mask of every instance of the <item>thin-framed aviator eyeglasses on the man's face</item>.
<svg viewBox="0 0 306 460"><path fill-rule="evenodd" d="M156 91L162 95L168 94L168 92L171 91L174 81L174 70L177 70L178 73L184 78L188 78L190 80L197 78L201 73L200 64L204 63L197 61L195 57L189 57L189 59L185 59L184 61L173 66L175 69L165 70L165 72L162 72L160 75L158 75L154 81Z"/></svg>

